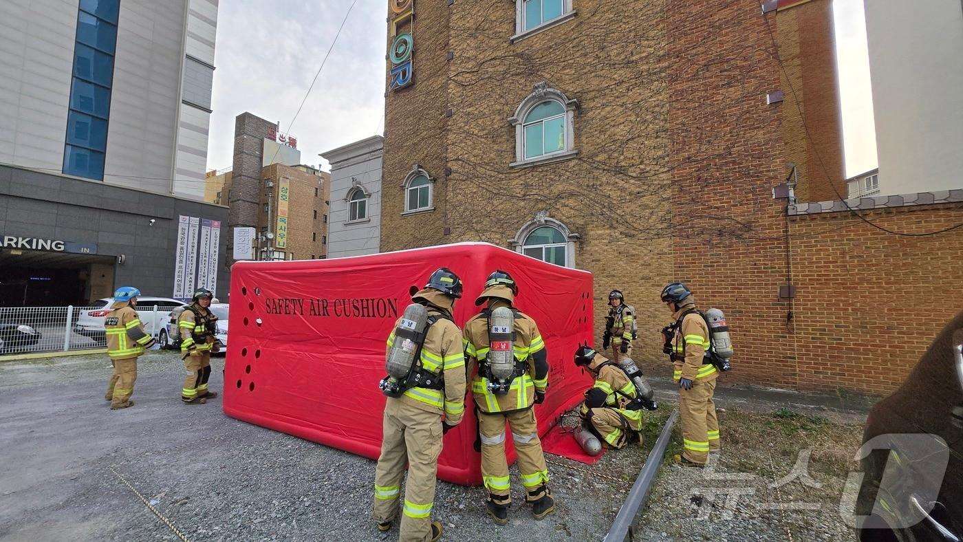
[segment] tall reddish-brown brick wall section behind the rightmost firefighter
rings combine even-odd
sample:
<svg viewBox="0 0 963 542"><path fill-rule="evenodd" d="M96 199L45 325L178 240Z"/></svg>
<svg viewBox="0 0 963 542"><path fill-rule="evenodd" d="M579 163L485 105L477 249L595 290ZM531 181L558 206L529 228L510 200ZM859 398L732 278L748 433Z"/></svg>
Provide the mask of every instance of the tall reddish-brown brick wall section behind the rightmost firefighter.
<svg viewBox="0 0 963 542"><path fill-rule="evenodd" d="M751 2L669 4L669 57L685 59L669 84L674 277L698 304L725 311L737 371L727 382L788 386L794 381L780 140L785 104L768 24Z"/></svg>

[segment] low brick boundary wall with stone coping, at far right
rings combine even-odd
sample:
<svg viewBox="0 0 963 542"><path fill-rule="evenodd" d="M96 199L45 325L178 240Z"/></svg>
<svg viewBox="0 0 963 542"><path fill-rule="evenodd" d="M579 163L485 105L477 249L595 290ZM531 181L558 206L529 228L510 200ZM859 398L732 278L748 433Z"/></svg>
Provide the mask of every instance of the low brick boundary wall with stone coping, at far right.
<svg viewBox="0 0 963 542"><path fill-rule="evenodd" d="M963 222L963 191L953 192L956 203L861 214L902 233L938 231ZM963 310L963 228L905 237L837 211L793 216L790 232L796 388L888 393Z"/></svg>

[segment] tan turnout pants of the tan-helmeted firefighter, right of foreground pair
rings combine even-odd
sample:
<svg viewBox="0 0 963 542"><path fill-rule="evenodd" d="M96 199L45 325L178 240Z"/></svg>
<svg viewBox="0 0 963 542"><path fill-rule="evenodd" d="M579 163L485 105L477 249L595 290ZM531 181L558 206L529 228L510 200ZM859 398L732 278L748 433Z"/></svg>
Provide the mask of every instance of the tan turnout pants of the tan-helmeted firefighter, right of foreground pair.
<svg viewBox="0 0 963 542"><path fill-rule="evenodd" d="M511 495L508 483L508 460L505 457L506 423L511 426L511 440L518 453L518 470L527 492L526 501L541 499L547 490L548 467L538 439L534 408L508 414L478 413L481 432L481 477L488 489L488 499L508 505Z"/></svg>

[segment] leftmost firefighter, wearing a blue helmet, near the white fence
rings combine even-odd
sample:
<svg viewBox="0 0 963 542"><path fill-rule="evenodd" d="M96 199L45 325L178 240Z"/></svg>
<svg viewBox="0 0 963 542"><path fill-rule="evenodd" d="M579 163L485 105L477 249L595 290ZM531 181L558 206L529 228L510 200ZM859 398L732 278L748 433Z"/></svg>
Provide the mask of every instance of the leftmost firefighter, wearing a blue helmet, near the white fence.
<svg viewBox="0 0 963 542"><path fill-rule="evenodd" d="M107 335L107 355L114 365L114 374L107 384L104 399L111 401L111 410L133 406L130 396L134 394L137 380L137 358L143 355L144 348L154 346L154 338L143 329L138 317L137 297L141 291L124 286L114 294L111 312L104 320Z"/></svg>

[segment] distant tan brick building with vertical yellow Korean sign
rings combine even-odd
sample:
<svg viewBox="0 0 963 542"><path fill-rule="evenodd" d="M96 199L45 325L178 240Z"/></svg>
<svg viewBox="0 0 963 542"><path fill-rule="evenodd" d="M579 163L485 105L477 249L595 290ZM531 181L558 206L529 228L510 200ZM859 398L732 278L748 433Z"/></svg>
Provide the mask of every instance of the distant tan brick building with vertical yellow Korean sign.
<svg viewBox="0 0 963 542"><path fill-rule="evenodd" d="M265 227L274 232L277 223L278 190L281 178L289 181L287 246L275 248L285 252L286 259L309 260L325 258L327 254L328 198L330 197L330 174L324 171L306 171L301 168L272 164L264 168L262 177L274 183L272 196L272 223L264 206L268 202L267 191L261 199L258 232Z"/></svg>

